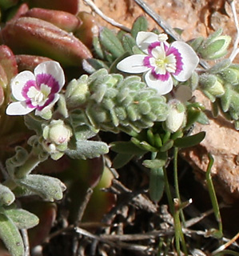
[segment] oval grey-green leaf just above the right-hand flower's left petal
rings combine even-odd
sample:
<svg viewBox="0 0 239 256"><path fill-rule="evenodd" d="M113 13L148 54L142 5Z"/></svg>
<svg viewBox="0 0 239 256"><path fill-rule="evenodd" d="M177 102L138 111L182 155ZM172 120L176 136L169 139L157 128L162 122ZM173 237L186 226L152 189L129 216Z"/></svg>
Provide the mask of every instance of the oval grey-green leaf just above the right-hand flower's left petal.
<svg viewBox="0 0 239 256"><path fill-rule="evenodd" d="M110 52L114 59L120 57L125 52L121 42L110 29L104 27L100 31L99 39L104 49Z"/></svg>

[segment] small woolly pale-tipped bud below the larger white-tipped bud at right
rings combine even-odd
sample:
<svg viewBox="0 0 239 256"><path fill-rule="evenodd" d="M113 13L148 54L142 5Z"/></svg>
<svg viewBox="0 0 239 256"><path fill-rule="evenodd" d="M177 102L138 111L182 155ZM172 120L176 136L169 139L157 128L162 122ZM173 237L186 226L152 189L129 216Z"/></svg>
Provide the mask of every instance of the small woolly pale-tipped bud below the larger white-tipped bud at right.
<svg viewBox="0 0 239 256"><path fill-rule="evenodd" d="M199 86L207 96L209 94L212 95L213 102L216 97L221 97L225 94L225 88L221 79L213 74L202 74L199 78Z"/></svg>

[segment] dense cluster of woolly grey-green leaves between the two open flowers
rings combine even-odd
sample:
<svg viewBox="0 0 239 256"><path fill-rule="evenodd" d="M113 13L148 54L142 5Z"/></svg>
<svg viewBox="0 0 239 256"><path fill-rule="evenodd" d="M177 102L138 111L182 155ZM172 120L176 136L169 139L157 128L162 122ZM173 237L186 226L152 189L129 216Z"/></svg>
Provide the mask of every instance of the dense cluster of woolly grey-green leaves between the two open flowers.
<svg viewBox="0 0 239 256"><path fill-rule="evenodd" d="M141 78L123 78L108 74L106 69L70 82L66 106L74 134L81 139L99 130L139 133L154 122L165 121L168 114L165 97L148 88Z"/></svg>

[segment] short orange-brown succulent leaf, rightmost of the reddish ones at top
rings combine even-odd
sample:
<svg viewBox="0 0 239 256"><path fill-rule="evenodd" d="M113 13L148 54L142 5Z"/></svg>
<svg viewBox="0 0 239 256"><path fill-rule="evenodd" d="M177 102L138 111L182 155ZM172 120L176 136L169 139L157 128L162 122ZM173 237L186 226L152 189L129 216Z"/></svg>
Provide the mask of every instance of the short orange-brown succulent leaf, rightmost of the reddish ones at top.
<svg viewBox="0 0 239 256"><path fill-rule="evenodd" d="M98 36L98 26L94 17L86 11L79 12L78 18L82 20L82 26L74 32L74 35L79 38L88 48L92 47L93 38Z"/></svg>

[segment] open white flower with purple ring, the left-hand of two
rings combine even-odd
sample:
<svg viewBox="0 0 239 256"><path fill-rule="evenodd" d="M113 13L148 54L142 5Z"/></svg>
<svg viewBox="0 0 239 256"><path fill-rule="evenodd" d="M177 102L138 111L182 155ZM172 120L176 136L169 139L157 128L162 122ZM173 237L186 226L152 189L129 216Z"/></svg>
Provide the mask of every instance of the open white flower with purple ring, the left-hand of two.
<svg viewBox="0 0 239 256"><path fill-rule="evenodd" d="M23 115L33 110L42 115L54 106L59 99L59 91L65 83L62 67L58 62L42 62L34 69L22 71L11 81L11 90L18 102L6 108L6 114Z"/></svg>

